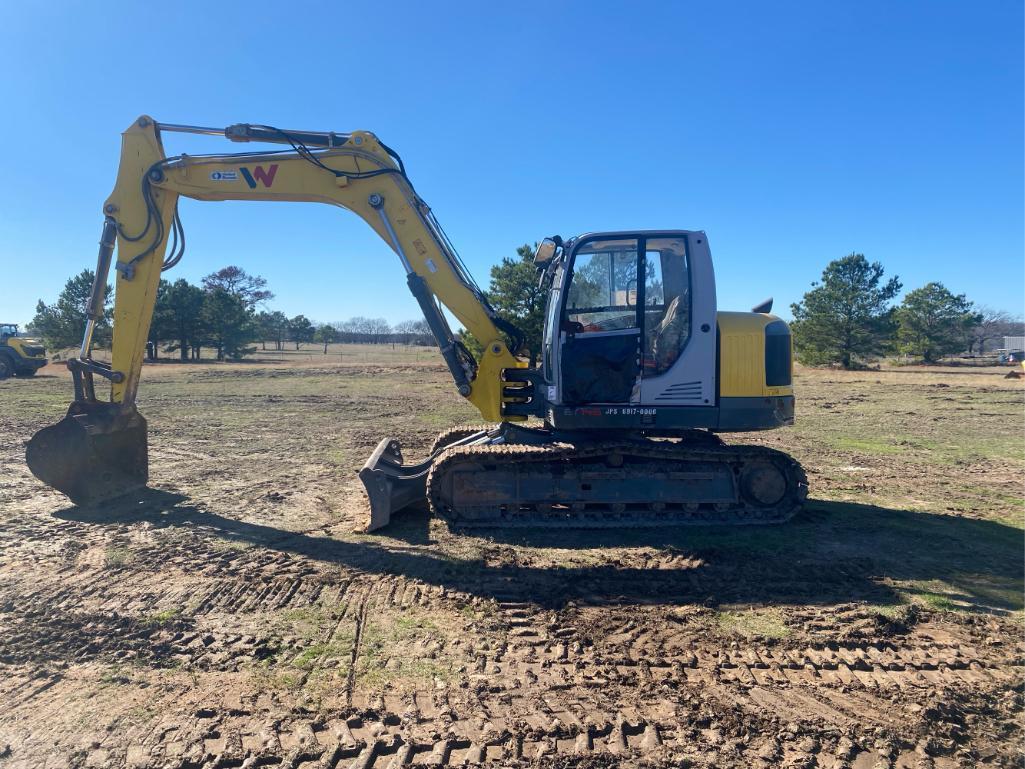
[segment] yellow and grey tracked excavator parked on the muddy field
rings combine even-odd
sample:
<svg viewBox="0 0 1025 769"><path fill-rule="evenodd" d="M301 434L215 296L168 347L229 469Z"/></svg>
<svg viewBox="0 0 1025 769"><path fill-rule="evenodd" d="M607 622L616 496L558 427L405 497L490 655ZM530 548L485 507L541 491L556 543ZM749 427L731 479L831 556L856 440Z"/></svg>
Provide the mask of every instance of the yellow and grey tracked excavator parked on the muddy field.
<svg viewBox="0 0 1025 769"><path fill-rule="evenodd" d="M167 157L168 132L278 147ZM792 457L720 437L793 422L792 352L771 300L746 313L719 311L704 232L541 240L534 264L547 306L540 366L530 368L518 357L520 330L488 302L400 156L373 133L207 128L144 116L122 134L102 208L85 331L68 361L75 399L27 446L33 474L76 504L104 504L148 483L136 396L161 272L184 252L181 197L340 206L398 256L457 392L488 424L442 434L413 463L397 440L383 439L360 471L368 530L424 502L458 528L779 523L807 497L807 476ZM91 350L112 261L106 363ZM481 342L479 356L446 311ZM110 383L109 396L97 396L97 379Z"/></svg>

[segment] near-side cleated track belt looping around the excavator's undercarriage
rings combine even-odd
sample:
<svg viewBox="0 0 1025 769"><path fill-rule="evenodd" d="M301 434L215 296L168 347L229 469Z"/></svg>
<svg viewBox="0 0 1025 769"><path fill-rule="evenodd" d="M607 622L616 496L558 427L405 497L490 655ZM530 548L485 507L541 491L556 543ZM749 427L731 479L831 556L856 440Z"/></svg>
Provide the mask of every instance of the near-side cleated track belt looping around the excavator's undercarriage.
<svg viewBox="0 0 1025 769"><path fill-rule="evenodd" d="M460 466L480 462L508 464L554 463L556 468L567 462L582 463L594 461L604 463L613 453L624 457L622 467L637 468L638 460L653 462L714 462L727 463L734 472L739 472L743 462L769 461L781 467L787 478L787 491L773 507L754 507L737 502L729 507L702 503L697 509L670 508L655 510L594 510L573 511L559 508L549 511L510 510L517 505L511 498L504 503L496 503L489 511L488 518L475 520L464 512L454 510L445 499L445 475L456 472ZM554 475L551 470L549 476ZM742 525L783 523L792 518L808 497L808 476L801 464L791 456L763 446L693 446L670 442L650 442L649 444L607 442L576 447L568 444L547 446L484 445L456 446L444 452L427 477L427 498L437 516L451 524L467 528L486 527L544 527L544 528L620 528L638 526L679 526L679 525ZM633 505L636 508L636 505ZM694 505L690 505L693 508Z"/></svg>

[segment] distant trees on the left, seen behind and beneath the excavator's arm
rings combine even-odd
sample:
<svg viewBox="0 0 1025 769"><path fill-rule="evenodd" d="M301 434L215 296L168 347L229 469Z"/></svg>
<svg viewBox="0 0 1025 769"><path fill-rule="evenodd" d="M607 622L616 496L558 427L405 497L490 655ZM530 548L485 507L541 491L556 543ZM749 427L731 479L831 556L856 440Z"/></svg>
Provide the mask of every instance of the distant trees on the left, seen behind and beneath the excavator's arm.
<svg viewBox="0 0 1025 769"><path fill-rule="evenodd" d="M85 328L85 307L93 273L83 271L65 285L53 305L40 300L32 321L33 332L46 346L61 349L77 346ZM324 353L334 342L433 345L434 336L425 321L403 321L392 327L383 318L356 317L335 324L316 324L304 315L289 318L281 312L257 308L274 298L266 280L249 275L238 267L225 267L193 285L178 279L161 280L150 326L148 354L175 355L180 360L199 360L203 349L212 350L217 360L237 360L272 345L283 350L294 343L322 345ZM108 286L104 318L93 339L97 347L111 342L112 290Z"/></svg>

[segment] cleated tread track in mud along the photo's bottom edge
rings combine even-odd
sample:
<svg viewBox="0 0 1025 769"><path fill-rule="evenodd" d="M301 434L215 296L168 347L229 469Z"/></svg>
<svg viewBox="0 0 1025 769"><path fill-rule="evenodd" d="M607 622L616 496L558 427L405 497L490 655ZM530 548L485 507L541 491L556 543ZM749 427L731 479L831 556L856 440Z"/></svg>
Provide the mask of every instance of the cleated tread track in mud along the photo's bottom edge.
<svg viewBox="0 0 1025 769"><path fill-rule="evenodd" d="M180 724L180 722L179 722ZM579 728L481 730L456 720L444 729L424 729L393 713L360 712L320 716L268 715L256 711L195 712L188 729L156 729L126 748L99 746L86 764L108 762L168 769L278 765L302 769L384 769L435 766L817 766L890 769L963 766L965 761L929 740L825 733L810 736L758 724L752 736L721 716L687 723L631 722Z"/></svg>

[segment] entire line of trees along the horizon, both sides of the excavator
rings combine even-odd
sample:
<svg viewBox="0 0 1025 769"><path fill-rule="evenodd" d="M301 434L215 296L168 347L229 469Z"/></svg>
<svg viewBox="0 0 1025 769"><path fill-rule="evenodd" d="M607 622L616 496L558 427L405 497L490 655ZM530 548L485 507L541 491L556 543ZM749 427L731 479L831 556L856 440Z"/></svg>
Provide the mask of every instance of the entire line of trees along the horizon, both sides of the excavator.
<svg viewBox="0 0 1025 769"><path fill-rule="evenodd" d="M498 315L524 331L519 354L536 361L541 343L545 292L538 285L533 248L525 244L516 257L491 269L487 296ZM92 273L68 281L53 305L40 301L32 327L51 349L77 346L85 327L85 303ZM797 359L808 365L863 366L885 356L901 355L933 363L952 355L985 355L1000 346L1003 336L1020 336L1022 320L1009 313L977 307L965 294L942 283L928 283L908 291L887 278L883 266L852 253L830 261L822 277L801 301L790 306ZM111 292L108 290L108 296ZM195 286L184 280L161 281L150 334L151 355L176 354L181 360L199 358L204 348L218 360L241 358L260 345L282 350L286 343L332 342L434 345L422 319L391 326L382 318L350 318L315 324L304 315L258 310L274 294L266 281L238 267L227 267ZM110 310L97 326L97 345L110 343ZM475 353L479 343L461 338Z"/></svg>

